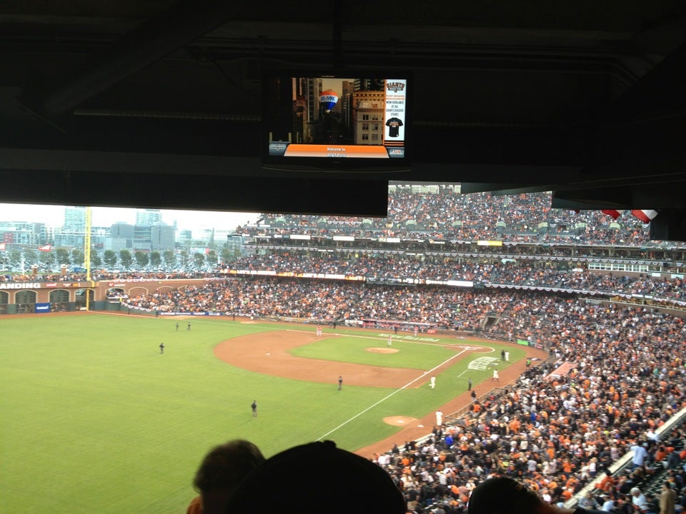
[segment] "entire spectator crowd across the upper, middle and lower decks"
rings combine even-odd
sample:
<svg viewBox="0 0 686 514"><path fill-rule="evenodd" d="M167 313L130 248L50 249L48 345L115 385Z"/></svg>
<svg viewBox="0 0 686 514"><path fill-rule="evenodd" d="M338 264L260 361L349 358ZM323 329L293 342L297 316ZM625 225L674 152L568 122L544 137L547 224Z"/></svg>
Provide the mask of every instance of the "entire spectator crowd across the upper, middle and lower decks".
<svg viewBox="0 0 686 514"><path fill-rule="evenodd" d="M265 215L262 225L242 230L248 236L362 231L392 238L648 243L647 227L640 221L622 218L619 226L611 225L612 218L597 212L551 209L550 193L461 196L447 188L438 193L397 188L389 194L389 214L382 220ZM0 281L85 278L66 273L0 276ZM426 440L404 441L372 456L417 512L466 513L469 493L479 482L490 475L508 475L548 503L562 504L593 484L599 494L582 498L582 506L616 514L657 514L651 498L637 505L632 490L639 488L642 494L642 485L661 470L667 470L667 481L677 490L677 503L686 506L686 433L677 426L657 435L686 406L686 323L657 308L686 302L679 276L563 270L545 259L284 250L245 256L207 272L97 271L91 278L208 279L202 285L164 288L126 300L131 308L162 314L209 312L329 323L405 321L485 338L525 339L546 348L548 361L527 368L503 390L475 399L454 423L435 426ZM469 281L479 287L430 281ZM612 301L588 301L584 296ZM645 305L647 299L652 305ZM556 373L562 364L568 371ZM608 475L608 468L627 453L632 455L630 470Z"/></svg>

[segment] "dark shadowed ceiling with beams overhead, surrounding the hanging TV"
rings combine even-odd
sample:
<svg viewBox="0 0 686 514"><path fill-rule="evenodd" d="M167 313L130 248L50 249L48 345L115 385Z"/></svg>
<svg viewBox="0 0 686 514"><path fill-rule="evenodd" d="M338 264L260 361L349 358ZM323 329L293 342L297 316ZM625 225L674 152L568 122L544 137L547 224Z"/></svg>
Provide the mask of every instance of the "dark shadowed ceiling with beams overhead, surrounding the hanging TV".
<svg viewBox="0 0 686 514"><path fill-rule="evenodd" d="M680 216L686 4L425 4L4 2L0 201L382 215L399 179ZM265 171L275 69L412 71L412 170Z"/></svg>

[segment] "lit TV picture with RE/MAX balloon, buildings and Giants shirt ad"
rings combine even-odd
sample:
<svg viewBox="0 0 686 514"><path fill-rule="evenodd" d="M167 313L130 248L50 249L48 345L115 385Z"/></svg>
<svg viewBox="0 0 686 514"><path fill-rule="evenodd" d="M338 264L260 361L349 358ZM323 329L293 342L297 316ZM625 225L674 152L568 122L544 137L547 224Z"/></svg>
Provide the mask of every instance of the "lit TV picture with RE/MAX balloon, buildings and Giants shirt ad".
<svg viewBox="0 0 686 514"><path fill-rule="evenodd" d="M268 113L269 155L403 157L406 94L404 79L291 76L275 81L269 85L269 103L275 106Z"/></svg>

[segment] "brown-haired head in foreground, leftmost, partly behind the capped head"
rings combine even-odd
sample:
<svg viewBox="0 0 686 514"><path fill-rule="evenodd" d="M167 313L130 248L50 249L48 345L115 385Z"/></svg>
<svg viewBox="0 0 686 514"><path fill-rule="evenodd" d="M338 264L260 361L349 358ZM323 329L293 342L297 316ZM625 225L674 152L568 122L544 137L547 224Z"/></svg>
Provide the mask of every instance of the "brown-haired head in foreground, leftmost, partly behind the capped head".
<svg viewBox="0 0 686 514"><path fill-rule="evenodd" d="M241 480L257 465L264 462L264 455L256 445L243 439L230 440L215 446L205 455L193 480L200 493L189 505L189 513L197 512L194 503L203 514L221 514L229 496Z"/></svg>

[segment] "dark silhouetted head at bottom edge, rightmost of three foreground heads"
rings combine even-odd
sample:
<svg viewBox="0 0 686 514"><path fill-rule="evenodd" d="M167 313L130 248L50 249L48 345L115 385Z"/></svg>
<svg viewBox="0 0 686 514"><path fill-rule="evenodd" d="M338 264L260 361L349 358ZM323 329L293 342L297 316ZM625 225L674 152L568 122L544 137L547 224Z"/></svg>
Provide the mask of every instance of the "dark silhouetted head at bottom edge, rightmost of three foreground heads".
<svg viewBox="0 0 686 514"><path fill-rule="evenodd" d="M535 491L512 478L488 478L469 496L468 514L580 514L602 511L567 509L546 503Z"/></svg>

